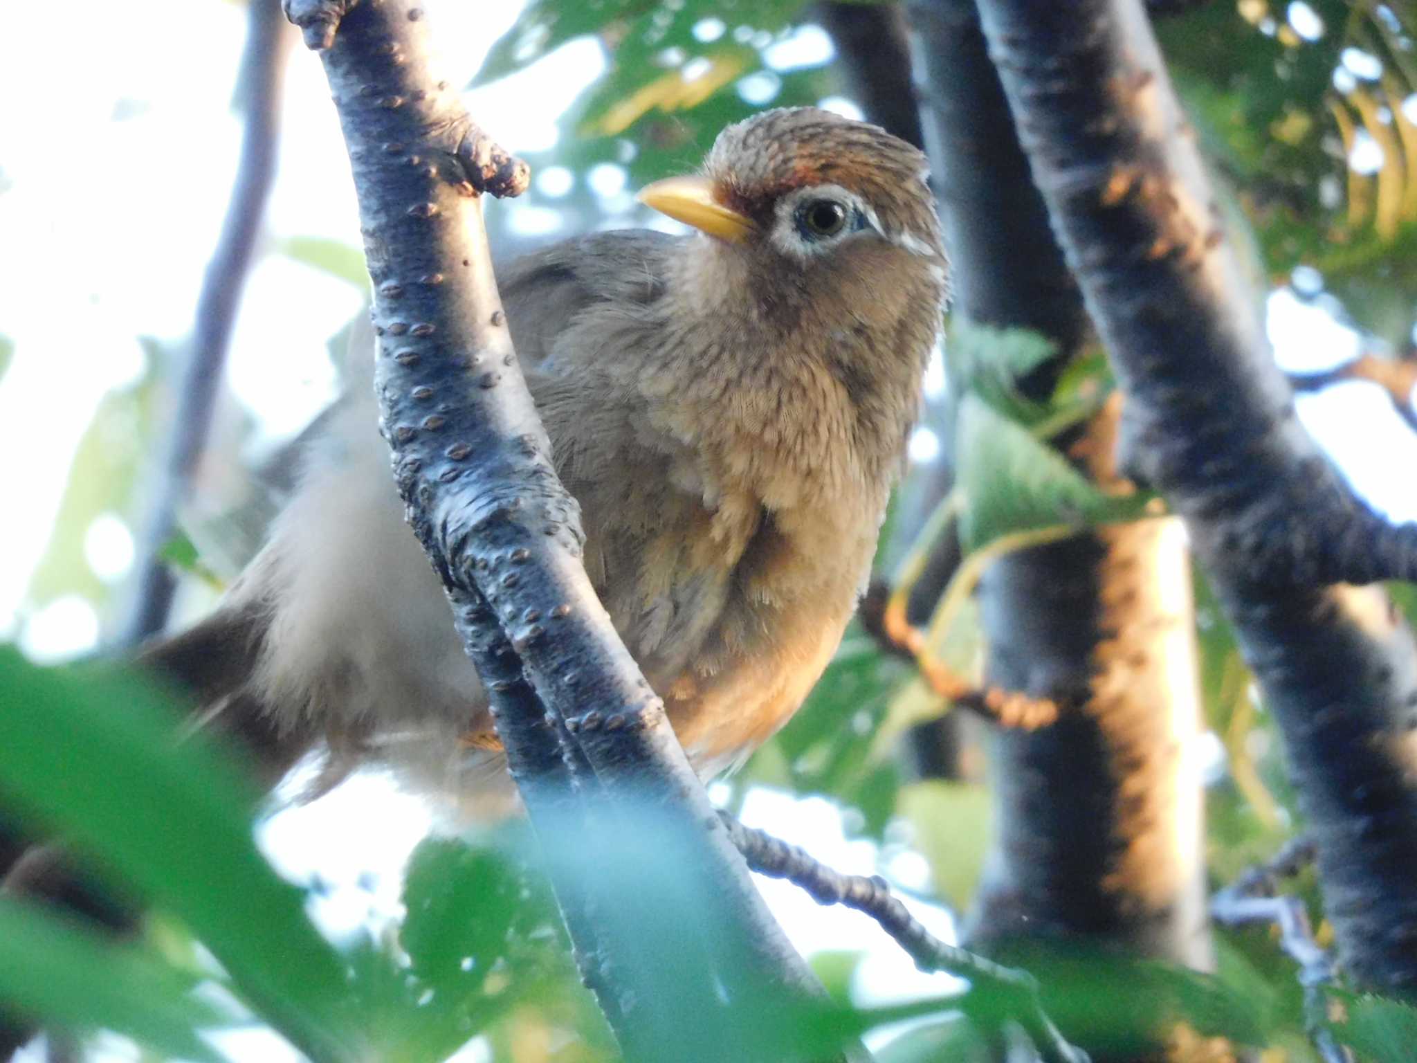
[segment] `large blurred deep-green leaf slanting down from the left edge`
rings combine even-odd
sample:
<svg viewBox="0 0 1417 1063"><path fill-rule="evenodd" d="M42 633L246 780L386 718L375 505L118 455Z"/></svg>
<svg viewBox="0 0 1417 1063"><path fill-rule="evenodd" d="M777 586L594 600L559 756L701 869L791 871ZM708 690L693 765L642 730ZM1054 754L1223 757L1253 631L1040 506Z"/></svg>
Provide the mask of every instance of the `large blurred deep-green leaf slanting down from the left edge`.
<svg viewBox="0 0 1417 1063"><path fill-rule="evenodd" d="M0 648L0 791L99 869L180 916L298 1046L343 1059L344 964L305 893L256 850L258 795L130 673L43 669Z"/></svg>

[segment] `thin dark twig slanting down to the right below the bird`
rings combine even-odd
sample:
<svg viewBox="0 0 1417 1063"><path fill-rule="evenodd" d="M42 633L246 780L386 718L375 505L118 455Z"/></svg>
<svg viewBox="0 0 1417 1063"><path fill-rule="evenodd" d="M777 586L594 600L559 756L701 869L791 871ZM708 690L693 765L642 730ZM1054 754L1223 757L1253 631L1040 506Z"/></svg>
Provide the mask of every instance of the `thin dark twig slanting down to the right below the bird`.
<svg viewBox="0 0 1417 1063"><path fill-rule="evenodd" d="M1009 1018L1029 1035L1044 1063L1085 1063L1087 1053L1068 1045L1044 1013L1039 984L1030 974L941 941L891 896L890 884L879 874L843 874L805 849L744 826L728 812L718 815L748 867L772 879L786 879L818 904L843 904L870 916L921 971L944 971L969 979L976 989L1009 996L1013 1002Z"/></svg>

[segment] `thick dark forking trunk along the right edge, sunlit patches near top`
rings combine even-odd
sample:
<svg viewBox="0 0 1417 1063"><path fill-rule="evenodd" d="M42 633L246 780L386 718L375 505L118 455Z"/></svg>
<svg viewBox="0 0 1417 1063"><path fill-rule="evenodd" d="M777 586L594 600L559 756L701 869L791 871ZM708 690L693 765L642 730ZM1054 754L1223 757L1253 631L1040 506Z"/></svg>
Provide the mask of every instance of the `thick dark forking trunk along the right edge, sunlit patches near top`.
<svg viewBox="0 0 1417 1063"><path fill-rule="evenodd" d="M1124 438L1185 516L1285 736L1343 964L1411 994L1417 643L1380 592L1322 581L1410 571L1417 526L1379 527L1298 424L1141 4L979 10L1127 393Z"/></svg>

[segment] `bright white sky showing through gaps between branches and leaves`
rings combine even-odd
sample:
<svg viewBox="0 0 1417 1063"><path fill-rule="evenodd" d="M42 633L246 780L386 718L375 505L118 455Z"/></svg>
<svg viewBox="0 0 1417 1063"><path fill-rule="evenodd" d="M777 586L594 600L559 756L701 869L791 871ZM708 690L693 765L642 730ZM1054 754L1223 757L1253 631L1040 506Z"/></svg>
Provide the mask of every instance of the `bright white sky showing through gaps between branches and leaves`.
<svg viewBox="0 0 1417 1063"><path fill-rule="evenodd" d="M427 7L445 48L445 68L455 81L466 81L520 3L429 0ZM61 600L37 615L26 615L24 607L75 446L102 395L143 373L135 337L179 342L187 334L237 157L239 126L228 99L244 35L242 7L147 0L143 16L135 18L126 4L88 0L65 10L65 21L81 31L60 34L51 7L17 4L6 13L0 41L0 99L10 101L0 108L0 245L6 248L0 334L16 344L14 361L0 378L0 452L9 455L0 463L0 497L23 500L3 526L0 638L18 635L41 659L81 652L98 636L94 609L82 600ZM706 20L697 31L708 40L726 30L718 20ZM829 55L830 41L815 27L769 51L779 69ZM473 94L473 113L513 150L553 147L555 118L602 67L598 44L568 44L516 78ZM774 75L758 74L738 91L767 101L774 82ZM43 106L24 105L41 94ZM850 108L847 101L830 102ZM553 167L538 176L538 189L548 197L564 194L572 179ZM628 200L618 167L588 180L608 203ZM523 231L547 231L557 221L544 207L523 210L517 223ZM327 86L319 62L302 50L292 55L268 234L359 242ZM256 266L228 383L266 438L298 431L333 397L324 340L357 306L353 288L282 255ZM1322 310L1289 295L1275 296L1271 310L1271 334L1285 364L1312 369L1352 353L1353 333ZM1417 439L1386 397L1350 384L1302 397L1299 410L1365 493L1397 519L1417 519L1410 486ZM922 459L934 449L928 434L914 444ZM132 534L115 516L101 517L88 532L86 554L96 573L118 581L132 563ZM840 815L823 801L760 791L745 819L809 846L843 870L880 870L874 846L849 840ZM398 914L398 872L427 828L418 802L378 777L361 775L313 806L278 815L262 840L292 877L317 872L332 886L315 914L340 934L371 916ZM920 884L911 882L918 879L917 865L897 859L891 870L907 884ZM860 979L864 998L938 991L938 982L927 988L864 917L822 910L781 883L764 883L764 893L801 947L871 950ZM938 910L921 909L921 917L949 933L948 917ZM258 1033L224 1043L234 1059L282 1059ZM103 1057L136 1054L113 1042ZM475 1057L472 1050L466 1060Z"/></svg>

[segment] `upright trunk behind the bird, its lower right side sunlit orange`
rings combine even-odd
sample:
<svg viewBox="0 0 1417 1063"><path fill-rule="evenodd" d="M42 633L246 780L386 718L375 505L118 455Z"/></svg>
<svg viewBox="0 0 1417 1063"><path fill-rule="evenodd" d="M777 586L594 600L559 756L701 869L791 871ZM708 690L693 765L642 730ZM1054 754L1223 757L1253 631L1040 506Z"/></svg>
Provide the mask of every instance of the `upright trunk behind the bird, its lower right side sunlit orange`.
<svg viewBox="0 0 1417 1063"><path fill-rule="evenodd" d="M1047 394L1088 336L1081 296L973 4L920 0L910 17L954 313L1051 339L1058 357L1023 381ZM1085 432L1110 438L1108 417ZM1107 462L1091 472L1115 476ZM1189 760L1200 694L1179 529L1146 522L1007 556L986 573L981 607L988 682L1053 697L1061 717L993 736L996 835L969 935L996 947L1081 937L1207 967L1202 791Z"/></svg>

